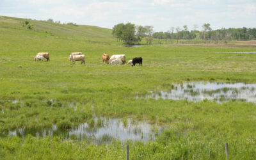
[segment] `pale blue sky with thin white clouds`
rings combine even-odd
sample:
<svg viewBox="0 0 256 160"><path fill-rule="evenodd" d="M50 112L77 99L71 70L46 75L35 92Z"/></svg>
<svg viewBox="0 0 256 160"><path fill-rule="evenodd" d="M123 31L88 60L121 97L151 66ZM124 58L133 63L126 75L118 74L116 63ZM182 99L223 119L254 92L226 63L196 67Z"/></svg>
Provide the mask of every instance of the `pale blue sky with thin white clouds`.
<svg viewBox="0 0 256 160"><path fill-rule="evenodd" d="M0 0L0 15L26 19L60 20L102 28L131 22L154 26L202 30L256 28L256 0Z"/></svg>

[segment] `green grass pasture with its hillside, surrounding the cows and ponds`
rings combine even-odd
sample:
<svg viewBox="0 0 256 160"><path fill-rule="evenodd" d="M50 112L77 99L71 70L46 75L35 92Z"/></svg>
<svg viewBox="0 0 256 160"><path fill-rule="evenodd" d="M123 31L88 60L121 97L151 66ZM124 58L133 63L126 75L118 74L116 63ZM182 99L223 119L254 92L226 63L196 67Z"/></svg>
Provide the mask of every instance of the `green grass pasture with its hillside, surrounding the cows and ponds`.
<svg viewBox="0 0 256 160"><path fill-rule="evenodd" d="M125 159L127 143L131 159L225 159L225 142L230 159L256 159L255 104L135 98L186 81L256 83L256 54L215 53L256 51L253 45L118 47L122 42L111 29L38 20L28 20L34 26L28 29L25 20L0 17L0 132L68 128L94 115L149 120L166 131L156 141L105 145L1 136L0 159ZM68 61L77 51L85 54L85 65ZM49 52L50 61L33 61L37 52ZM127 61L141 56L143 67L111 67L102 63L104 52L125 54ZM68 102L83 105L62 106Z"/></svg>

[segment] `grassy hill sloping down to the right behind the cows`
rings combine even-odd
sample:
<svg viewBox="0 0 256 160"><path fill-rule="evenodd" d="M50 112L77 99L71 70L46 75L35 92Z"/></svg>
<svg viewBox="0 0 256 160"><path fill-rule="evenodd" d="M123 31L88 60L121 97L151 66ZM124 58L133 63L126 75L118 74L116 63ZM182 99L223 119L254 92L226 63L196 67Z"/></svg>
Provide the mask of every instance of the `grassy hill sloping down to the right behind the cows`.
<svg viewBox="0 0 256 160"><path fill-rule="evenodd" d="M29 22L27 25L26 21ZM33 29L28 29L28 25L31 24ZM0 17L0 35L2 53L72 52L84 51L88 45L92 47L92 44L96 46L115 44L111 29L84 25L70 26L42 20L3 16Z"/></svg>

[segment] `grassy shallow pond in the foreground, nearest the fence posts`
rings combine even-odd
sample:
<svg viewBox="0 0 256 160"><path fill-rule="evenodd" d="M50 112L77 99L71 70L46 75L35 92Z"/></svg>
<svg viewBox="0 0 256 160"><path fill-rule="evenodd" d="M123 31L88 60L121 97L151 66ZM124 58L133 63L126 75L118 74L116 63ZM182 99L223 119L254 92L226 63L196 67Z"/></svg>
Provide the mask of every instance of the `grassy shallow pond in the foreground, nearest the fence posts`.
<svg viewBox="0 0 256 160"><path fill-rule="evenodd" d="M4 132L1 136L19 136L25 138L28 134L35 137L63 136L72 140L91 140L92 143L111 143L112 138L126 141L154 141L156 136L164 128L146 121L136 122L132 118L122 120L120 118L94 118L94 123L83 123L72 129L58 129L52 125L49 129L15 129Z"/></svg>

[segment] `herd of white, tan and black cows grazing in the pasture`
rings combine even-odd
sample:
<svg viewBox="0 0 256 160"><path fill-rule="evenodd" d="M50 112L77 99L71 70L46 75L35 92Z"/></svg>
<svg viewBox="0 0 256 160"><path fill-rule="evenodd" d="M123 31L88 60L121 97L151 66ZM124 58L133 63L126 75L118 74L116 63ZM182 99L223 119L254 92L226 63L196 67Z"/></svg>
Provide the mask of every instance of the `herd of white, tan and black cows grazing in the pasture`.
<svg viewBox="0 0 256 160"><path fill-rule="evenodd" d="M50 61L50 56L49 52L38 52L36 54L34 61ZM76 61L81 61L81 64L85 63L85 56L82 52L72 52L69 57L69 61L72 61L74 64ZM124 65L125 64L125 54L114 54L109 58L108 54L102 54L102 61L104 63L117 66L117 65ZM127 62L127 65L135 66L136 63L139 63L142 66L142 58L141 57L136 57L133 58L132 60L129 60Z"/></svg>

